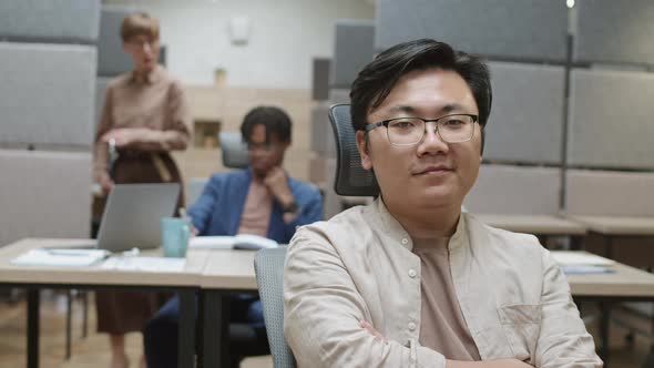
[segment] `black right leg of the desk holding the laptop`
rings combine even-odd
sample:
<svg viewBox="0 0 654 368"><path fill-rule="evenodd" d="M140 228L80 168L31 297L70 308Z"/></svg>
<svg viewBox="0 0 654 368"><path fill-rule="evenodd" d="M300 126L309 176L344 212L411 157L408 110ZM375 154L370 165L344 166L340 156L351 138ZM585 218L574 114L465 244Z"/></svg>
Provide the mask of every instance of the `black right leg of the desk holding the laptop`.
<svg viewBox="0 0 654 368"><path fill-rule="evenodd" d="M195 292L182 290L180 295L180 338L177 339L177 367L195 366Z"/></svg>

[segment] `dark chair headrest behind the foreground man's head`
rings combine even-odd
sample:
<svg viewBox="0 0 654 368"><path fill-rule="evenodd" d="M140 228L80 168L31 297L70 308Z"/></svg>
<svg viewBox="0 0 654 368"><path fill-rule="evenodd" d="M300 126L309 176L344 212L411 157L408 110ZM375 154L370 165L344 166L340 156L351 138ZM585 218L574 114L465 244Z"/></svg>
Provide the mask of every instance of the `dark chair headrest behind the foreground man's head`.
<svg viewBox="0 0 654 368"><path fill-rule="evenodd" d="M350 105L336 104L329 109L329 121L336 139L336 175L334 191L339 195L376 196L379 186L372 172L361 166L355 141Z"/></svg>

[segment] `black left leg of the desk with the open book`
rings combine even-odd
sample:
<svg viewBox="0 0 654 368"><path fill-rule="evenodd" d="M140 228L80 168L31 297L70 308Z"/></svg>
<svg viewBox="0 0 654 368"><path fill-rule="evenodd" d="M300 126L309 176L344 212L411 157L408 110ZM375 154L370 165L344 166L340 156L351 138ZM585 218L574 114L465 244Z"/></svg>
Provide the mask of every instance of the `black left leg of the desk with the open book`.
<svg viewBox="0 0 654 368"><path fill-rule="evenodd" d="M204 292L202 367L229 367L229 296Z"/></svg>

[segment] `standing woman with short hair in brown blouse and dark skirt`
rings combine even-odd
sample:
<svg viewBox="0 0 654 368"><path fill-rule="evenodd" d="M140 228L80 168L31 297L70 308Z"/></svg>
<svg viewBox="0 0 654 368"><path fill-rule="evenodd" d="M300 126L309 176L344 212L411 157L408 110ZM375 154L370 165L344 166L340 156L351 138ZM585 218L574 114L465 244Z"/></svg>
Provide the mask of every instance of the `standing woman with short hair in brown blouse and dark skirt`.
<svg viewBox="0 0 654 368"><path fill-rule="evenodd" d="M159 22L143 12L127 16L121 25L123 50L134 70L106 88L95 139L94 176L106 194L113 184L178 182L181 175L170 151L185 150L190 114L180 82L157 64ZM108 164L109 145L117 159ZM177 209L183 205L183 191ZM161 306L154 293L96 293L98 331L110 335L112 368L129 366L124 335L142 331ZM144 359L141 359L144 367Z"/></svg>

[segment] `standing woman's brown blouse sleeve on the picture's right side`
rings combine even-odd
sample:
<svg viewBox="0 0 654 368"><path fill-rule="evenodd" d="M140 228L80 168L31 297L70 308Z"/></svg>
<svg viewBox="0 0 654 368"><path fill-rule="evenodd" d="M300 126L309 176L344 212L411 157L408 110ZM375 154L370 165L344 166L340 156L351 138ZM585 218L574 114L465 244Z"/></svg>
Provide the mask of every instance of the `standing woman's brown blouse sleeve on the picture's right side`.
<svg viewBox="0 0 654 368"><path fill-rule="evenodd" d="M184 91L177 82L171 84L166 110L165 129L139 129L133 147L143 151L186 150L192 132L191 113Z"/></svg>

